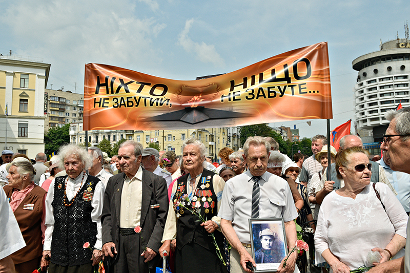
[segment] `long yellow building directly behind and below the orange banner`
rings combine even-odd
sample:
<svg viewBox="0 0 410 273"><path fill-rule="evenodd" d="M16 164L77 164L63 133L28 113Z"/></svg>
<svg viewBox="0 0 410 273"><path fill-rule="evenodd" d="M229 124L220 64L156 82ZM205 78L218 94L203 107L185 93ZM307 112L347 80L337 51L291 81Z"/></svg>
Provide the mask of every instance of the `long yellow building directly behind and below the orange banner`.
<svg viewBox="0 0 410 273"><path fill-rule="evenodd" d="M74 122L70 125L70 142L85 144L85 131L83 122ZM107 139L111 143L126 138L132 139L147 148L150 143L158 143L161 150L175 151L181 155L183 141L189 137L196 137L202 141L211 157L215 158L223 147L230 147L234 151L239 150L240 140L236 127L208 128L208 129L186 129L186 130L93 130L88 132L88 142L97 145L101 140Z"/></svg>

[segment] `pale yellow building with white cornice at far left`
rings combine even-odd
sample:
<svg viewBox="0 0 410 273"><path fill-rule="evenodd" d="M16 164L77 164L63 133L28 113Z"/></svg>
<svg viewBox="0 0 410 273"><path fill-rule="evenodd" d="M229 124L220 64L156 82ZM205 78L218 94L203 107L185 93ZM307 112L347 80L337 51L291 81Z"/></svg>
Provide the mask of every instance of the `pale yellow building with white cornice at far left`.
<svg viewBox="0 0 410 273"><path fill-rule="evenodd" d="M42 58L0 55L2 150L30 158L44 152L44 95L49 73L50 64Z"/></svg>

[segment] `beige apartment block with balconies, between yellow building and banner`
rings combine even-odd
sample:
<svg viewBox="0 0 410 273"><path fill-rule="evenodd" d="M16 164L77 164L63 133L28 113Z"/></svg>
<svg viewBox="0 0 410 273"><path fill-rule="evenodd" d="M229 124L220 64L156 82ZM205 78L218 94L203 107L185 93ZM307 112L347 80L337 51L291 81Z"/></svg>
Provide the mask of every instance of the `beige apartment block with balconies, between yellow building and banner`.
<svg viewBox="0 0 410 273"><path fill-rule="evenodd" d="M83 120L84 95L71 91L46 89L45 131L50 127L62 127L66 123Z"/></svg>

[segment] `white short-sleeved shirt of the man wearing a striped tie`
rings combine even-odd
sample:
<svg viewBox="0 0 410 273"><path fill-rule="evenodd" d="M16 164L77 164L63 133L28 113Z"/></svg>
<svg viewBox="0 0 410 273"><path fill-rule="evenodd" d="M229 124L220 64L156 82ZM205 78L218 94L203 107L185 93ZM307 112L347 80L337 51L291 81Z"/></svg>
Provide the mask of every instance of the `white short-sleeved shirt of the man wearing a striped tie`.
<svg viewBox="0 0 410 273"><path fill-rule="evenodd" d="M249 219L252 218L252 174L248 170L227 181L218 216L232 221L242 243L251 243ZM283 218L289 222L298 217L292 192L286 180L265 172L259 180L259 218Z"/></svg>

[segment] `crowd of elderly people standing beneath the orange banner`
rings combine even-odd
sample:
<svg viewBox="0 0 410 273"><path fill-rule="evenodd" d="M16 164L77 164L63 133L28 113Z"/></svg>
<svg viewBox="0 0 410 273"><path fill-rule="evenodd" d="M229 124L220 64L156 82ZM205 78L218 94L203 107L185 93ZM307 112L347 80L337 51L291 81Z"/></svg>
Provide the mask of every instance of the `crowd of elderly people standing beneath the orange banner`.
<svg viewBox="0 0 410 273"><path fill-rule="evenodd" d="M392 123L398 118L410 120L410 109ZM391 126L395 134L384 136L390 141L384 147L401 164L391 138L410 134ZM402 258L408 216L389 181L372 179L374 172L383 178L383 169L356 136L345 137L338 151L324 140L314 139L314 156L301 164L272 139L249 137L239 152L224 149L218 168L195 138L183 143L180 157L127 140L112 162L114 176L98 148L68 144L47 162L42 186L29 159L15 156L4 166L8 183L0 193L0 271L154 272L168 257L178 273L306 272L306 256L275 248L283 242L292 249L297 225L306 223L315 231L314 263L323 272L362 266L388 272L384 263L409 268ZM333 180L326 179L328 166ZM258 234L250 228L249 219L273 218L283 221L283 238L263 221ZM388 262L393 259L402 265Z"/></svg>

